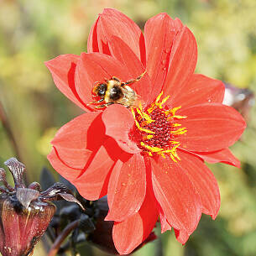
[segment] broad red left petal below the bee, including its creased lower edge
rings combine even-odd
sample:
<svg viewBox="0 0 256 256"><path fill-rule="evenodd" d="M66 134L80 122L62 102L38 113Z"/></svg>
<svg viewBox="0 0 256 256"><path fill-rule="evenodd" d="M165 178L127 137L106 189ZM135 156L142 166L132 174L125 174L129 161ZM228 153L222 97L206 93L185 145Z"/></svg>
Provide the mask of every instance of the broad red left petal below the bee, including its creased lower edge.
<svg viewBox="0 0 256 256"><path fill-rule="evenodd" d="M88 112L66 123L51 142L50 164L72 183L89 165L92 152L106 139L101 112Z"/></svg>

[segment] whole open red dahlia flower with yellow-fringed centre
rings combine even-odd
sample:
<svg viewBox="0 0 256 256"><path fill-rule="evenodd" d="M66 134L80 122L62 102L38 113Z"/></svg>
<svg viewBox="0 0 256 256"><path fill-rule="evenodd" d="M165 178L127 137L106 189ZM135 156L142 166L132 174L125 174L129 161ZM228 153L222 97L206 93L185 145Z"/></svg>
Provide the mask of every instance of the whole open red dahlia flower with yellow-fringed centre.
<svg viewBox="0 0 256 256"><path fill-rule="evenodd" d="M222 105L221 81L194 74L197 50L191 30L167 14L150 18L144 34L123 13L105 9L91 29L88 53L46 63L56 86L91 110L66 123L48 156L60 175L89 200L107 195L119 253L142 243L160 217L185 243L201 218L220 207L217 180L206 167L239 166L228 147L246 126ZM95 111L95 84L112 76L128 81L141 104Z"/></svg>

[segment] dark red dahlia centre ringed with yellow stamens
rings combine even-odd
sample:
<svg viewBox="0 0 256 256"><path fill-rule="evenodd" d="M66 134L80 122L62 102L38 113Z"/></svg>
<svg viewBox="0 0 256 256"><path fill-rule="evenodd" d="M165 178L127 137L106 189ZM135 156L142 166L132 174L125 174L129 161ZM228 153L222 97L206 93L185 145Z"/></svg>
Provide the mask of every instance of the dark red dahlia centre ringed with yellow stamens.
<svg viewBox="0 0 256 256"><path fill-rule="evenodd" d="M169 96L162 96L163 92L146 109L141 105L138 108L131 108L135 125L129 135L138 147L143 149L144 154L160 155L163 158L169 156L176 162L180 160L177 154L177 148L180 146L177 137L187 132L178 121L186 117L176 115L180 107L169 109L165 106Z"/></svg>

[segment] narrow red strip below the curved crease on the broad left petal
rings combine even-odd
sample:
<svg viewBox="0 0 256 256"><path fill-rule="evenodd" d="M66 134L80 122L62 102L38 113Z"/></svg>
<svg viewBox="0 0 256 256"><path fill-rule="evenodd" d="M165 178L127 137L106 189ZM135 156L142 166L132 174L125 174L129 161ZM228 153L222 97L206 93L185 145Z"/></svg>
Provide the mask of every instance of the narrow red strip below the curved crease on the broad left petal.
<svg viewBox="0 0 256 256"><path fill-rule="evenodd" d="M66 180L73 181L78 175L80 175L81 170L71 168L59 158L56 149L51 149L50 154L47 155L47 159L50 161L50 165Z"/></svg>

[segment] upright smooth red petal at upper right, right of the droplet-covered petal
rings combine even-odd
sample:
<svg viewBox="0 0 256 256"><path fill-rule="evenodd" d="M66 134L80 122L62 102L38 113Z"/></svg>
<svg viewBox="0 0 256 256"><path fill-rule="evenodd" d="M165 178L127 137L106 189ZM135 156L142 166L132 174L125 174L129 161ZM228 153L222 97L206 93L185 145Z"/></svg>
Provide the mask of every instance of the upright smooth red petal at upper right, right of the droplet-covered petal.
<svg viewBox="0 0 256 256"><path fill-rule="evenodd" d="M191 30L184 27L176 34L170 52L170 65L164 85L164 96L170 96L170 105L180 92L196 68L197 45Z"/></svg>

